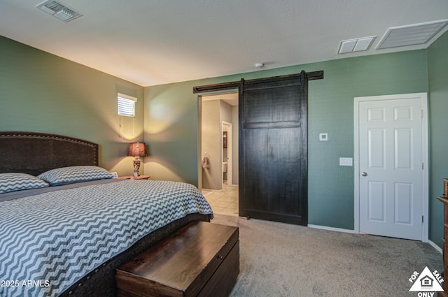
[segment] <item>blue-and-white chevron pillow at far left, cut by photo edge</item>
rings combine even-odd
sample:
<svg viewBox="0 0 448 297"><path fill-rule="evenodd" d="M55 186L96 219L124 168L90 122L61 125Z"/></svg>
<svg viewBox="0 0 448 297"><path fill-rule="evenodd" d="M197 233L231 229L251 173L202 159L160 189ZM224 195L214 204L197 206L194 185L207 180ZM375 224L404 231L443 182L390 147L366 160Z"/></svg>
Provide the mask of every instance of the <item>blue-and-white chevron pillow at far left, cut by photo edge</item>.
<svg viewBox="0 0 448 297"><path fill-rule="evenodd" d="M0 194L48 186L43 180L26 173L0 173Z"/></svg>

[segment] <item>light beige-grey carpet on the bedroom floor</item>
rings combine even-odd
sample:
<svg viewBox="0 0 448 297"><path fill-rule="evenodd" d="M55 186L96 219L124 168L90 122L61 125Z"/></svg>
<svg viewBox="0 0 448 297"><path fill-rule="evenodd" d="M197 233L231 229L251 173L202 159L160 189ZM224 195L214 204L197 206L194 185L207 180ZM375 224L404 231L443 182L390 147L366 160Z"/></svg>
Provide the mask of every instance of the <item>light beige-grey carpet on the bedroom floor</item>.
<svg viewBox="0 0 448 297"><path fill-rule="evenodd" d="M237 296L417 296L409 277L425 266L442 271L442 254L427 243L340 233L215 215L239 227Z"/></svg>

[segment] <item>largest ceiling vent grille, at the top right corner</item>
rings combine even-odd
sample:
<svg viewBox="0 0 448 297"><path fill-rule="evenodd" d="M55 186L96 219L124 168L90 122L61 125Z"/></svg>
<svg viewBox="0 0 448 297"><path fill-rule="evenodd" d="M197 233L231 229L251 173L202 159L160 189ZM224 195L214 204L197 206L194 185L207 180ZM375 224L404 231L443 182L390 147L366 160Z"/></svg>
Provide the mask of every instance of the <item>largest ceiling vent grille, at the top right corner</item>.
<svg viewBox="0 0 448 297"><path fill-rule="evenodd" d="M377 50L380 48L396 48L398 46L427 43L447 24L448 20L439 20L389 28L381 41L379 41Z"/></svg>

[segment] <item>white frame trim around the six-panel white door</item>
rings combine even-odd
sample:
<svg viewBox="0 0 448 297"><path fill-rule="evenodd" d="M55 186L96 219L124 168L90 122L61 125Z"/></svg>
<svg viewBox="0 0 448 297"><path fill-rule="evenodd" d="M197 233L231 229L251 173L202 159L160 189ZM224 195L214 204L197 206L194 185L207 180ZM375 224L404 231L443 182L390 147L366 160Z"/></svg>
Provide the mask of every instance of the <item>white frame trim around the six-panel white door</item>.
<svg viewBox="0 0 448 297"><path fill-rule="evenodd" d="M429 139L428 139L428 94L427 93L411 93L411 94L393 94L382 96L363 96L354 98L354 219L355 219L355 233L359 233L359 221L360 221L360 168L359 168L359 103L363 101L383 101L393 99L409 99L419 98L421 100L421 132L422 132L422 160L423 160L423 174L422 174L422 211L423 211L423 225L421 228L421 241L428 242L429 231Z"/></svg>

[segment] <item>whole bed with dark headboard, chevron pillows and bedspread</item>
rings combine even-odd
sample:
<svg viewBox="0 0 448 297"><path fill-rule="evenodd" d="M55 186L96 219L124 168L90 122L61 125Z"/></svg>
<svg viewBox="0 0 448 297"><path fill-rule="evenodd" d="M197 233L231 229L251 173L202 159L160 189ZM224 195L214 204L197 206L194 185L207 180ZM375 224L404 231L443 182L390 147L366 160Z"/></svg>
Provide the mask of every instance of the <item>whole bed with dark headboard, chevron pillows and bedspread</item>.
<svg viewBox="0 0 448 297"><path fill-rule="evenodd" d="M0 296L116 296L118 266L188 222L210 221L193 185L113 179L98 150L0 132Z"/></svg>

